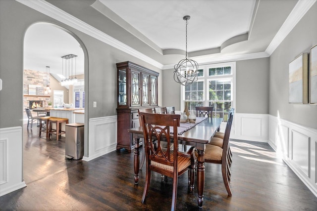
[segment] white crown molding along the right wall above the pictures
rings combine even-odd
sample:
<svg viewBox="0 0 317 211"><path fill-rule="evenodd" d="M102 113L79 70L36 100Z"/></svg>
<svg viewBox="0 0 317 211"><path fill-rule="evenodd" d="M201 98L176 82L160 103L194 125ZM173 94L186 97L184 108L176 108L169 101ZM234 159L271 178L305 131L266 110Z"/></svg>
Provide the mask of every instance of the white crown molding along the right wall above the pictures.
<svg viewBox="0 0 317 211"><path fill-rule="evenodd" d="M292 29L302 19L306 12L314 5L315 2L316 0L299 0L296 3L273 40L267 46L265 52L268 53L268 55L271 55L274 52L278 45L286 38L286 36L292 31Z"/></svg>

